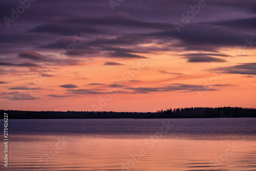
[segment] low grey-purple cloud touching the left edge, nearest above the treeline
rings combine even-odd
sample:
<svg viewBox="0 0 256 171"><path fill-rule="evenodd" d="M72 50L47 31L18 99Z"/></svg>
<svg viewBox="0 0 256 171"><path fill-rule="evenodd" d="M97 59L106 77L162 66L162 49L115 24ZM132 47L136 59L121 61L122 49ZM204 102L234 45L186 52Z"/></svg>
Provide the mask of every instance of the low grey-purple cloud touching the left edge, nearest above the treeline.
<svg viewBox="0 0 256 171"><path fill-rule="evenodd" d="M1 93L1 98L8 100L36 100L37 97L33 97L30 94L20 93L20 92L3 92Z"/></svg>

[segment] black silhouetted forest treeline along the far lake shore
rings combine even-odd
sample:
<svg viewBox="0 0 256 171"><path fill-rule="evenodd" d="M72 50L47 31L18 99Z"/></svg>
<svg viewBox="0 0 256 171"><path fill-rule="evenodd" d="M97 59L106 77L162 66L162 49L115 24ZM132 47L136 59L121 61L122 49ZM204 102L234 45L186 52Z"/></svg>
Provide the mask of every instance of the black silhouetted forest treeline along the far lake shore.
<svg viewBox="0 0 256 171"><path fill-rule="evenodd" d="M17 111L0 110L8 119L94 119L94 118L220 118L256 117L255 108L178 108L157 112Z"/></svg>

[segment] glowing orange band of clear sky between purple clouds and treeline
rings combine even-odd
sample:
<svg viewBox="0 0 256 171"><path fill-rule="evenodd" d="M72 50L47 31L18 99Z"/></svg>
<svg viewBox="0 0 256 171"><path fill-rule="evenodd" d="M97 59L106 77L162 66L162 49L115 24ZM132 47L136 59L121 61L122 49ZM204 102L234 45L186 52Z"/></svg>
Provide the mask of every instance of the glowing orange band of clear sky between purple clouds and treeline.
<svg viewBox="0 0 256 171"><path fill-rule="evenodd" d="M230 52L238 50L230 49L229 53L223 53L230 54ZM256 52L247 50L246 53L250 55ZM144 61L142 59L115 60L115 62L123 64L120 66L104 65L105 62L111 59L101 57L88 60L76 66L57 66L46 72L49 75L54 75L52 77L40 76L39 74L2 75L1 80L11 82L6 84L3 89L22 85L31 90L19 90L19 92L29 94L38 99L8 100L2 98L1 107L2 109L33 111L98 110L154 112L159 109L193 106L242 106L246 108L255 106L256 81L254 77L205 71L209 68L236 66L239 63L246 63L248 61L256 62L256 60L252 61L250 56L237 56L237 59L239 59L237 63L232 61L206 64L188 63L186 59L181 59L172 52L145 56L148 58L143 59ZM223 59L226 58L223 57ZM160 73L159 71L166 71L166 73ZM168 74L167 72L181 73L183 75ZM34 85L27 84L28 82L34 83ZM100 84L89 86L90 83ZM205 87L191 92L188 89L133 93L132 90L127 89L159 88L175 83L203 85ZM77 88L59 87L65 84L73 84ZM111 88L111 84L122 84L123 87ZM214 85L216 84L227 84L228 86L215 87ZM218 88L218 90L211 90L215 88ZM81 89L95 89L96 92L102 93L74 94L71 91ZM117 93L113 91L117 91ZM55 97L49 95L55 95Z"/></svg>

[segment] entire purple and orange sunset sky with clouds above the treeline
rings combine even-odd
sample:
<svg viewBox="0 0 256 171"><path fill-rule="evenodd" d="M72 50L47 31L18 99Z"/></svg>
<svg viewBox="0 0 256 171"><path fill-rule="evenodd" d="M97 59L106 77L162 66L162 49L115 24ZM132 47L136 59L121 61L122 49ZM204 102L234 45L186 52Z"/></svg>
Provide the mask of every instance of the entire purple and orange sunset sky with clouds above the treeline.
<svg viewBox="0 0 256 171"><path fill-rule="evenodd" d="M0 0L0 109L256 107L256 1Z"/></svg>

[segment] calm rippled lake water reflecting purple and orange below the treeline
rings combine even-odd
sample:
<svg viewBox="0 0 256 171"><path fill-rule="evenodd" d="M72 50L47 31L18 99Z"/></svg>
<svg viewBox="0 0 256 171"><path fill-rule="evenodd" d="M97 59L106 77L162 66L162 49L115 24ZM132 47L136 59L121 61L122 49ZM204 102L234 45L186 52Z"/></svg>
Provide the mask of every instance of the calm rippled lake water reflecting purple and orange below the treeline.
<svg viewBox="0 0 256 171"><path fill-rule="evenodd" d="M1 170L256 170L256 118L28 119L8 126L9 164Z"/></svg>

